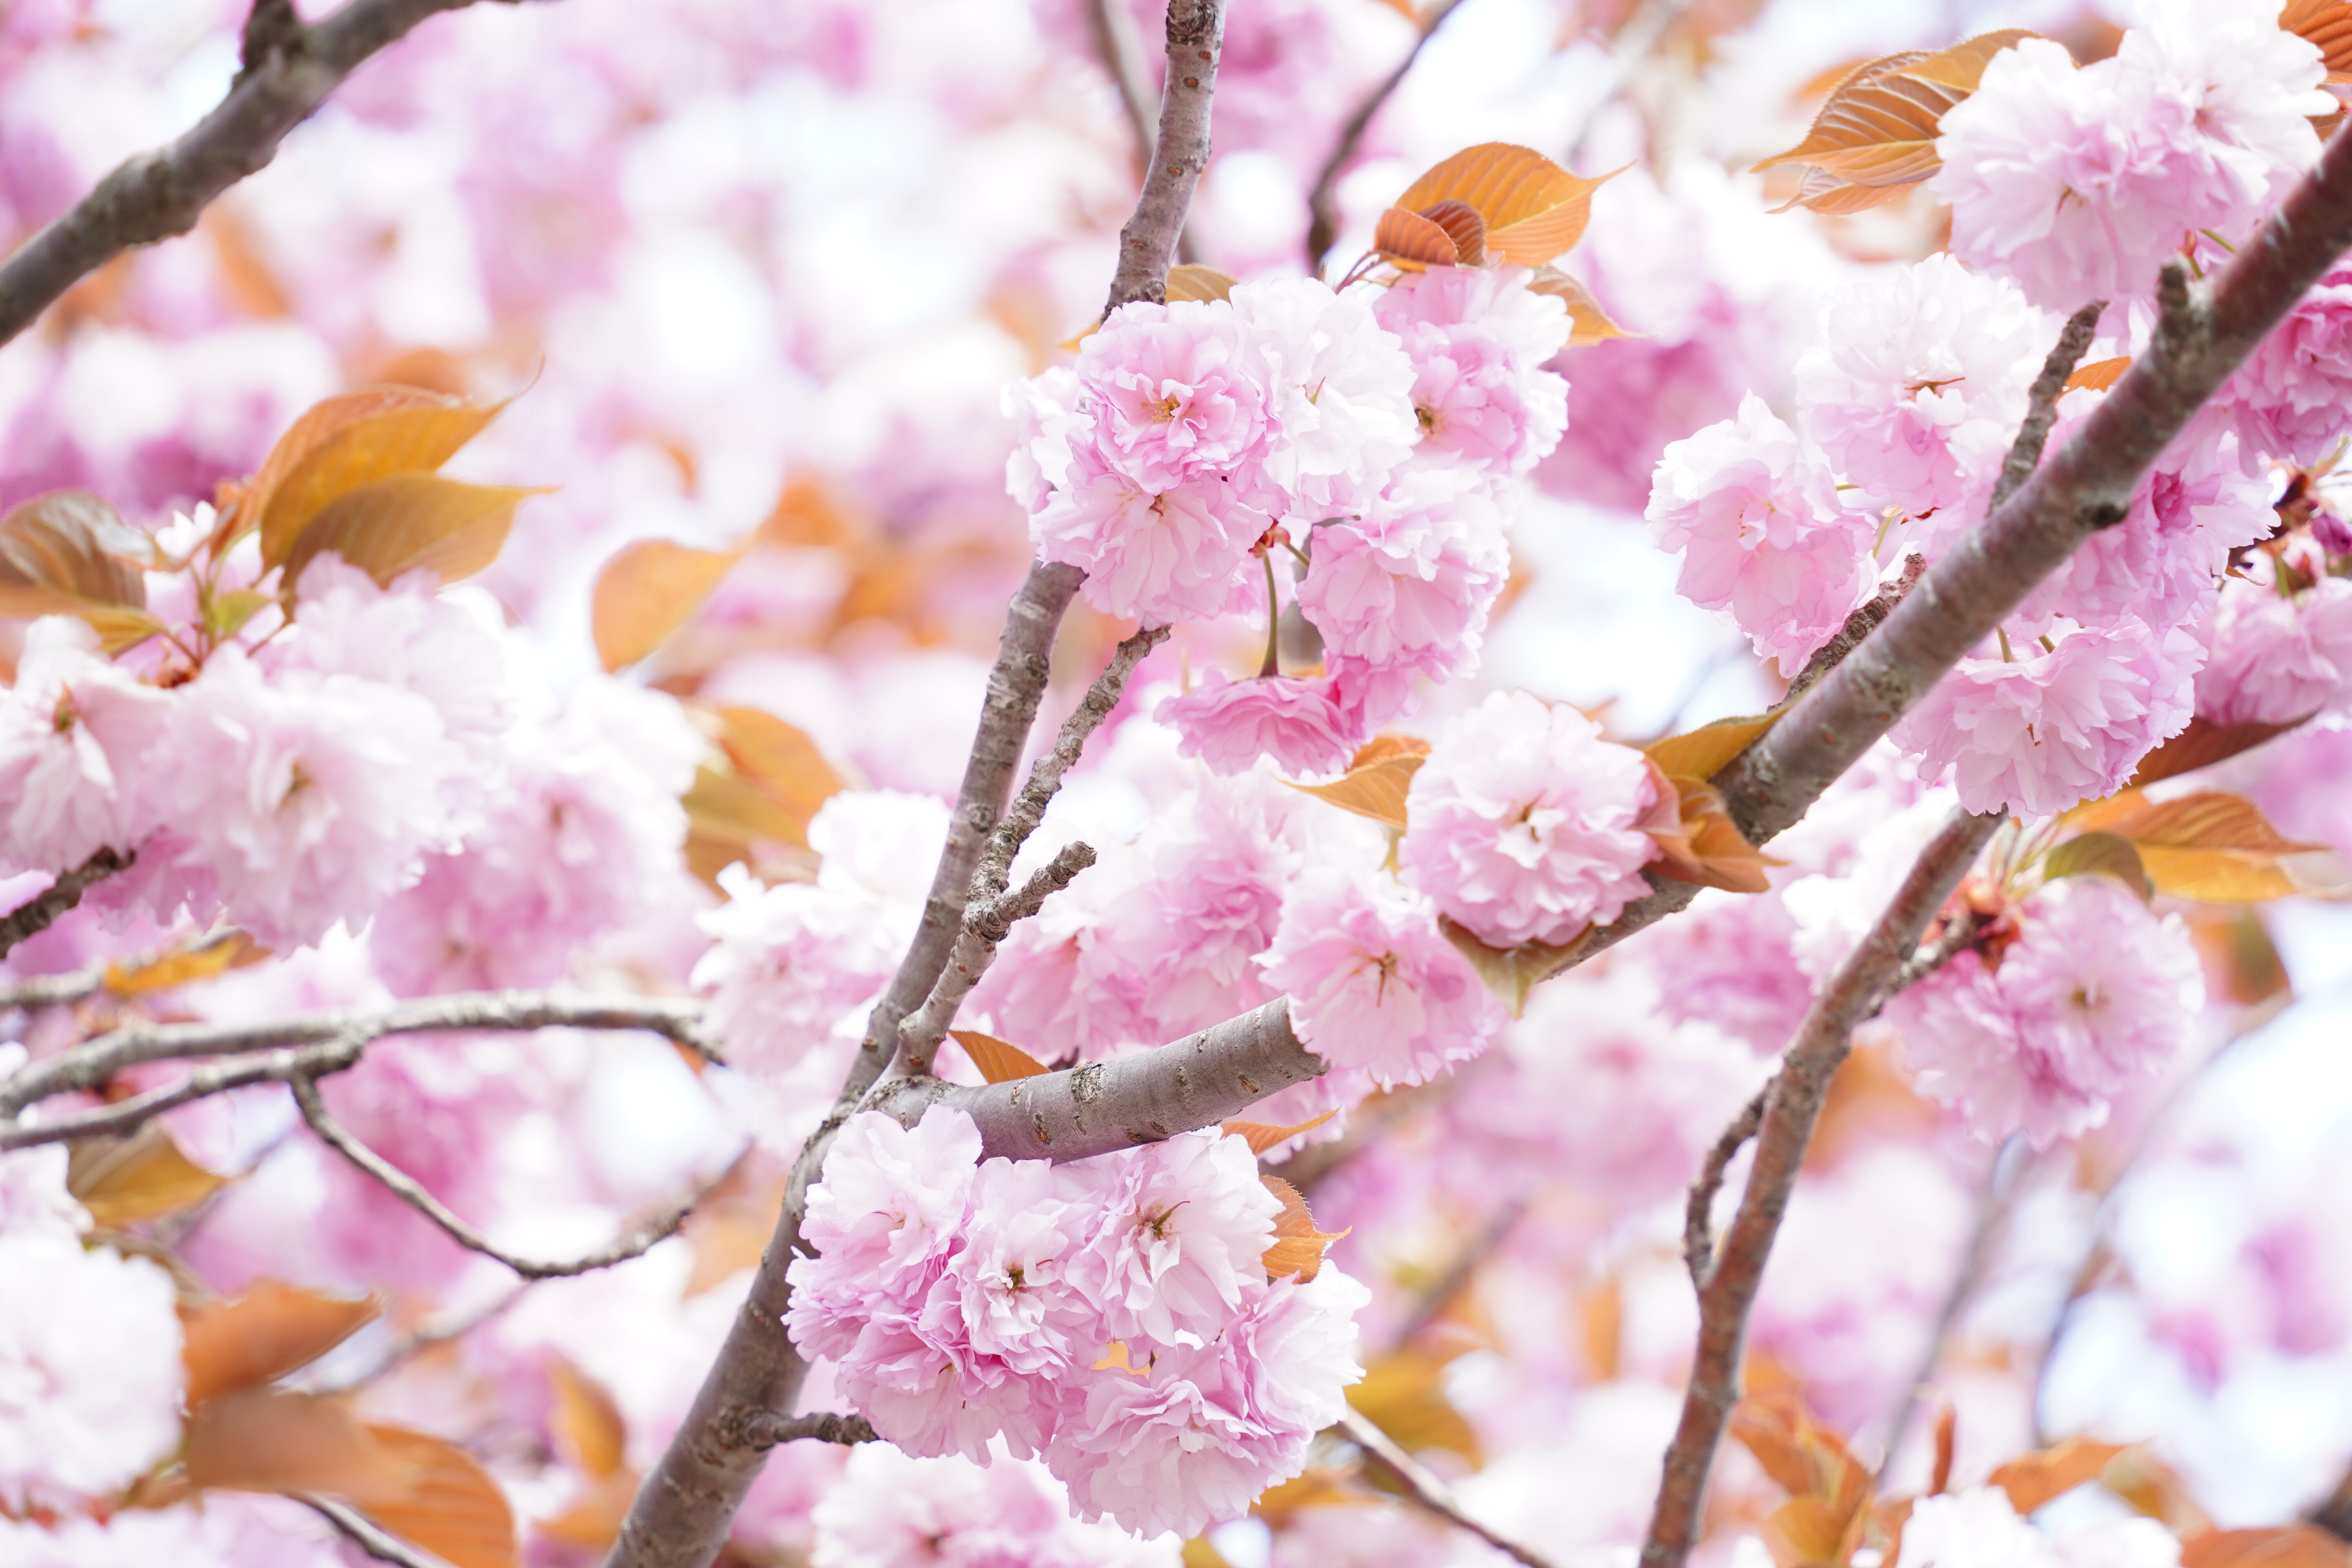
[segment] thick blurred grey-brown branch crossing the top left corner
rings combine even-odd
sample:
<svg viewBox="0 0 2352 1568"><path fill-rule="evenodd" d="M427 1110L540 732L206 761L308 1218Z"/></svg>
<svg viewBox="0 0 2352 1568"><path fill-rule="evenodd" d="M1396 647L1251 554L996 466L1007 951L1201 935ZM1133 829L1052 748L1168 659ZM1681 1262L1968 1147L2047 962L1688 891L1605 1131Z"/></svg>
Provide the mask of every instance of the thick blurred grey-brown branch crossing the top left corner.
<svg viewBox="0 0 2352 1568"><path fill-rule="evenodd" d="M473 0L353 0L315 26L285 0L259 0L228 96L172 146L141 153L0 263L0 343L31 327L75 282L134 244L195 228L216 195L278 155L360 61L435 12Z"/></svg>

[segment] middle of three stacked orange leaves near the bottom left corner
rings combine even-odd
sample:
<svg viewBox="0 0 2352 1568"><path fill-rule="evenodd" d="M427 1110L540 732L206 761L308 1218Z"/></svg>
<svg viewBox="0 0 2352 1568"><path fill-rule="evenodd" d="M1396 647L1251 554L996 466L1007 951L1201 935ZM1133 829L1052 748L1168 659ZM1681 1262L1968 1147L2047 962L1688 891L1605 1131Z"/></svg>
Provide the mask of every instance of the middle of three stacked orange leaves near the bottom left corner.
<svg viewBox="0 0 2352 1568"><path fill-rule="evenodd" d="M195 1403L181 1450L188 1483L238 1493L397 1493L407 1462L334 1399L242 1387Z"/></svg>

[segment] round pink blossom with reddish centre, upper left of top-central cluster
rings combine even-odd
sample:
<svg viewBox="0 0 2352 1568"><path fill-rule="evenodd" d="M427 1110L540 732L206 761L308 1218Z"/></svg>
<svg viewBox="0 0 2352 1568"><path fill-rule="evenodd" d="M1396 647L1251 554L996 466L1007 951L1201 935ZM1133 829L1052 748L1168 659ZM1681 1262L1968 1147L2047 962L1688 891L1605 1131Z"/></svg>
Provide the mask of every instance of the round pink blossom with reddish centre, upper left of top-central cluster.
<svg viewBox="0 0 2352 1568"><path fill-rule="evenodd" d="M1150 491L1230 475L1265 440L1268 390L1225 301L1120 306L1077 355L1094 451Z"/></svg>

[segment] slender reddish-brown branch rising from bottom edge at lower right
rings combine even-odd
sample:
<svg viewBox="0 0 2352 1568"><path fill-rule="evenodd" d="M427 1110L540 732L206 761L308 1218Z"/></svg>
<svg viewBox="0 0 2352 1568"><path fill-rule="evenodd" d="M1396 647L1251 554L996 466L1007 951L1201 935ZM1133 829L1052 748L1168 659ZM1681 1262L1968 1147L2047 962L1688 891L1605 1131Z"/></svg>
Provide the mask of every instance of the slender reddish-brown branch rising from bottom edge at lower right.
<svg viewBox="0 0 2352 1568"><path fill-rule="evenodd" d="M1679 1568L1698 1544L1700 1505L1708 1472L1724 1439L1724 1422L1740 1399L1740 1352L1748 1342L1748 1312L1755 1307L1764 1262L1780 1234L1804 1150L1813 1140L1820 1103L1830 1077L1853 1048L1853 1027L1886 999L1905 959L1919 947L1919 933L1952 896L1976 863L1978 851L2002 825L2002 816L1955 813L1919 853L1893 903L1870 929L1870 936L1839 964L1813 999L1797 1039L1780 1058L1780 1072L1764 1095L1757 1126L1757 1159L1748 1173L1731 1232L1698 1291L1698 1354L1691 1363L1691 1387L1682 1401L1682 1425L1665 1450L1665 1479L1651 1514L1649 1540L1642 1544L1644 1568Z"/></svg>

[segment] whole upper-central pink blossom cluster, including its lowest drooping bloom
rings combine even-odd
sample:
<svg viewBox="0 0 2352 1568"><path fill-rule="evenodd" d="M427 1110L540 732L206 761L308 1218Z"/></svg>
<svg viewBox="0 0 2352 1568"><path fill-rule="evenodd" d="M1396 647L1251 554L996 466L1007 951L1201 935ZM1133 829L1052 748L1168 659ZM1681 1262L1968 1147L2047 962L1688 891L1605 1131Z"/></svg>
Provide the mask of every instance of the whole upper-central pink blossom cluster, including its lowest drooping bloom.
<svg viewBox="0 0 2352 1568"><path fill-rule="evenodd" d="M1075 369L1007 393L1009 463L1044 559L1087 569L1098 609L1145 625L1279 609L1324 672L1211 675L1160 717L1232 773L1261 755L1329 773L1409 710L1416 679L1477 670L1510 576L1510 480L1566 430L1562 301L1519 268L1439 268L1376 301L1317 280L1124 306Z"/></svg>

